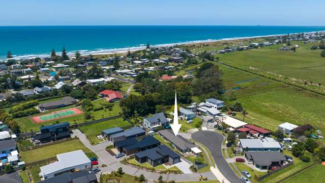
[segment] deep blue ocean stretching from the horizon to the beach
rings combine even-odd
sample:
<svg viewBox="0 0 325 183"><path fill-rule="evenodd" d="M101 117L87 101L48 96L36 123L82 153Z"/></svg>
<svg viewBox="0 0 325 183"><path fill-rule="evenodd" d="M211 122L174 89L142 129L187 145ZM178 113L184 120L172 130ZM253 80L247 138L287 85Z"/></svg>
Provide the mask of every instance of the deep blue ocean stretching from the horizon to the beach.
<svg viewBox="0 0 325 183"><path fill-rule="evenodd" d="M106 53L150 45L227 38L324 31L325 27L282 26L22 26L0 27L0 59L8 50L15 57L44 57L52 48L73 54Z"/></svg>

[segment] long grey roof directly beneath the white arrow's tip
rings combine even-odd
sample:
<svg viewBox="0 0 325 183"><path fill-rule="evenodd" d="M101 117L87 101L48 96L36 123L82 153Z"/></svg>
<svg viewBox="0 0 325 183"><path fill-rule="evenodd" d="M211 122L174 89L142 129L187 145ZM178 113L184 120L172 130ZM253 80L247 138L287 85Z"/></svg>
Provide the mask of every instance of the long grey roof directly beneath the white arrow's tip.
<svg viewBox="0 0 325 183"><path fill-rule="evenodd" d="M170 129L163 129L158 131L161 136L164 136L168 141L170 141L175 146L179 147L182 150L186 150L187 148L191 149L196 147L193 143L185 139L184 137L178 135L175 136Z"/></svg>

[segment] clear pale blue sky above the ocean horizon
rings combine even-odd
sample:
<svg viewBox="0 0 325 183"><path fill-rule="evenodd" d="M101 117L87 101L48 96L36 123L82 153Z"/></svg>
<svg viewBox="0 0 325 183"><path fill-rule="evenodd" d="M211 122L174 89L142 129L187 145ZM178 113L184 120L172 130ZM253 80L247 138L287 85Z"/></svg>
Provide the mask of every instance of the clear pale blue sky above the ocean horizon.
<svg viewBox="0 0 325 183"><path fill-rule="evenodd" d="M0 25L325 25L323 0L2 0Z"/></svg>

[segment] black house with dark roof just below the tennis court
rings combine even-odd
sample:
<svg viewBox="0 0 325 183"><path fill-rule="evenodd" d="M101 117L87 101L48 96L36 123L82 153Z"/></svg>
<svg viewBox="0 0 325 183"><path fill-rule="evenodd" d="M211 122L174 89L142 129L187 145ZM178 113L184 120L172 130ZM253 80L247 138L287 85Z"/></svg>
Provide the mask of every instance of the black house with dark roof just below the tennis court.
<svg viewBox="0 0 325 183"><path fill-rule="evenodd" d="M41 126L41 132L34 136L35 143L46 143L70 138L70 124L68 122Z"/></svg>

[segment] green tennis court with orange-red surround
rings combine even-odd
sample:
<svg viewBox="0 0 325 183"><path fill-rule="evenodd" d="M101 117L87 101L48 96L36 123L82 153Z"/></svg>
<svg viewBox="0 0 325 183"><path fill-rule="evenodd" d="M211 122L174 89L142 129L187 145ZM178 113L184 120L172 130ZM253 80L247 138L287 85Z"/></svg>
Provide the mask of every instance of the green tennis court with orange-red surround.
<svg viewBox="0 0 325 183"><path fill-rule="evenodd" d="M71 117L75 116L78 114L82 114L83 112L78 109L78 108L72 108L72 109L66 109L62 111L55 111L49 114L44 114L40 116L33 116L31 119L33 120L34 123L42 123L45 121L51 121L55 119L60 119L60 118L66 118L66 117Z"/></svg>

